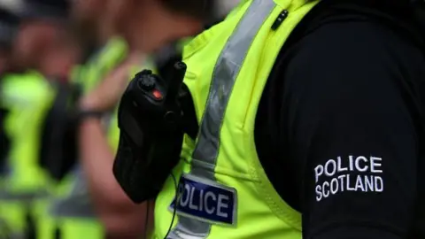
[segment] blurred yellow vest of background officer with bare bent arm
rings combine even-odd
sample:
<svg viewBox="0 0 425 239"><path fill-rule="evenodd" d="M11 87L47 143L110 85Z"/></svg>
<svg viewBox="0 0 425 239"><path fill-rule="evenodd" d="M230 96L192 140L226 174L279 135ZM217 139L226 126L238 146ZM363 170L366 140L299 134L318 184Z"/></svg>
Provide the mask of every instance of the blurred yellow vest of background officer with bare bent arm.
<svg viewBox="0 0 425 239"><path fill-rule="evenodd" d="M72 81L81 85L83 94L89 93L120 64L127 50L124 40L112 38L86 65L77 66ZM77 165L59 182L48 211L39 221L37 238L56 239L59 233L61 239L103 239L104 228L93 211L88 190L81 166Z"/></svg>

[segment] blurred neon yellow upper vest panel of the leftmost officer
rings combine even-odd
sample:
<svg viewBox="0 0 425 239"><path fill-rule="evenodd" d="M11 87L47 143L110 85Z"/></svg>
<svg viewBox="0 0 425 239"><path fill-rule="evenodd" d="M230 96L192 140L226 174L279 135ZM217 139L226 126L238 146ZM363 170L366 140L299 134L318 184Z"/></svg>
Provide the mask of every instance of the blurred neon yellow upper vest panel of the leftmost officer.
<svg viewBox="0 0 425 239"><path fill-rule="evenodd" d="M2 104L11 111L4 130L13 142L7 189L15 193L44 189L47 176L38 166L40 127L55 92L38 73L4 78L3 91Z"/></svg>

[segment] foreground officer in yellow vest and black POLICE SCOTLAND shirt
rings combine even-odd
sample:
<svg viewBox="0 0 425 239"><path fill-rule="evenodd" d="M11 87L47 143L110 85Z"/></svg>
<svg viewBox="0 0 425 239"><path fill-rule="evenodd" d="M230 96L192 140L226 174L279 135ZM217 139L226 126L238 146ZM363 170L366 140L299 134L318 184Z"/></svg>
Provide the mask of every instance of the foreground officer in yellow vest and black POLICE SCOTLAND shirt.
<svg viewBox="0 0 425 239"><path fill-rule="evenodd" d="M138 4L128 24L156 19L144 4L203 9ZM153 238L424 238L425 34L413 10L250 0L189 42L199 132L166 172ZM143 34L124 35L143 47ZM125 185L130 197L138 185Z"/></svg>

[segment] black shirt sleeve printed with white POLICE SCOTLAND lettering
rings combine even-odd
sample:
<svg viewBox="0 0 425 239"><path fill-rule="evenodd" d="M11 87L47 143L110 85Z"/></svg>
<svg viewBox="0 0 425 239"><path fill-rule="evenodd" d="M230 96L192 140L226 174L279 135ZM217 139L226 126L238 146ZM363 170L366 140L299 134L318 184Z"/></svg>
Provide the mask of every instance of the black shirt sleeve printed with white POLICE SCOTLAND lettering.
<svg viewBox="0 0 425 239"><path fill-rule="evenodd" d="M304 238L406 238L418 193L420 51L350 19L317 27L282 62L283 89L273 90L284 160L296 162L302 185Z"/></svg>

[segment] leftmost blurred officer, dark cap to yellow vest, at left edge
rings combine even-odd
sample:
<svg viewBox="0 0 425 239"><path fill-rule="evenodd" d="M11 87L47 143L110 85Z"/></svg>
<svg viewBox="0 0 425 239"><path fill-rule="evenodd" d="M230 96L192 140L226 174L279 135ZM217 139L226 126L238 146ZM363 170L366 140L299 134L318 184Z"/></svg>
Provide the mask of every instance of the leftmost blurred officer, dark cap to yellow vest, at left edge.
<svg viewBox="0 0 425 239"><path fill-rule="evenodd" d="M55 97L56 81L67 78L80 51L66 32L66 4L2 0L0 5L20 19L12 44L15 73L2 81L2 104L9 109L4 128L12 147L0 217L7 221L9 236L23 238L35 235L34 220L42 210L38 203L50 190L39 164L42 120Z"/></svg>

